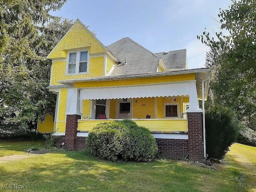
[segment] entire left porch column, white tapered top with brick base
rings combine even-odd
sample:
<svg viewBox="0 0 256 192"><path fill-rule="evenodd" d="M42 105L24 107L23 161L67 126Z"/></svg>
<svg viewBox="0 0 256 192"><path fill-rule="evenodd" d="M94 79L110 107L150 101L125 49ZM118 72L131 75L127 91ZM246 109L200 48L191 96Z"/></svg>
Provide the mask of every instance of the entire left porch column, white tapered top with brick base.
<svg viewBox="0 0 256 192"><path fill-rule="evenodd" d="M76 150L76 134L80 113L80 90L77 88L68 89L66 107L66 130L64 147L68 150Z"/></svg>

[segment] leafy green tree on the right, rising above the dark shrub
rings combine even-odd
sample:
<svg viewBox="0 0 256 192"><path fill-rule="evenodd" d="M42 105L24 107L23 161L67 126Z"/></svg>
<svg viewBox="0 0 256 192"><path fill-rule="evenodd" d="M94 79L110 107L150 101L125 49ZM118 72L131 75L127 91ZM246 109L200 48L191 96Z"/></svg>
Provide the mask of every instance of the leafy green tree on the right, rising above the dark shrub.
<svg viewBox="0 0 256 192"><path fill-rule="evenodd" d="M210 46L213 102L231 108L240 122L256 130L256 2L232 0L218 14L221 32L204 31L198 39Z"/></svg>

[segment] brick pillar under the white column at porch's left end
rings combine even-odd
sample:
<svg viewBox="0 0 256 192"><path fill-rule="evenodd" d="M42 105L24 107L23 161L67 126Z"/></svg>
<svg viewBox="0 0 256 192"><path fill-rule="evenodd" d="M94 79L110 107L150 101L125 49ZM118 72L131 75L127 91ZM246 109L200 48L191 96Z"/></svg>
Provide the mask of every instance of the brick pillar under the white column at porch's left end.
<svg viewBox="0 0 256 192"><path fill-rule="evenodd" d="M67 115L64 148L68 150L76 150L76 133L77 120L81 119L80 115Z"/></svg>

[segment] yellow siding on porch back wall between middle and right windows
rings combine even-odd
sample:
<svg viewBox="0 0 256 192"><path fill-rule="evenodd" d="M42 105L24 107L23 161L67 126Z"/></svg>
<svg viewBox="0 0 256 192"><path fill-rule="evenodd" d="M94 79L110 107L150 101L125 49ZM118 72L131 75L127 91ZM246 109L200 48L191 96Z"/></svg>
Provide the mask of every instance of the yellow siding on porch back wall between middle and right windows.
<svg viewBox="0 0 256 192"><path fill-rule="evenodd" d="M151 118L155 118L155 98L134 98L133 118L146 118L147 114L151 115Z"/></svg>

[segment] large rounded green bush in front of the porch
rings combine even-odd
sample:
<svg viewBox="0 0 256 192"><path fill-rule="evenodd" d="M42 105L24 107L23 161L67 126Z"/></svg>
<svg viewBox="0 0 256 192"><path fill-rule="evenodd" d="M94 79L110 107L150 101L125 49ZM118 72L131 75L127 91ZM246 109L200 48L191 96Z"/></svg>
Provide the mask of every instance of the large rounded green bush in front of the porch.
<svg viewBox="0 0 256 192"><path fill-rule="evenodd" d="M107 160L149 161L157 154L150 131L132 120L96 125L86 140L88 151Z"/></svg>

